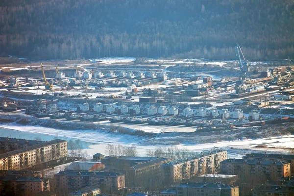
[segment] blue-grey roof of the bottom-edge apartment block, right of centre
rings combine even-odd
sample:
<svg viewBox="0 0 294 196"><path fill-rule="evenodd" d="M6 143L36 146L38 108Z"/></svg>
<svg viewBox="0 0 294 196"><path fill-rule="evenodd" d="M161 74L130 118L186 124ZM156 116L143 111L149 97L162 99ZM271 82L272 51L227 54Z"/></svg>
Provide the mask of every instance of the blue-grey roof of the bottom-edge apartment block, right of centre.
<svg viewBox="0 0 294 196"><path fill-rule="evenodd" d="M207 182L196 182L196 183L183 183L176 186L177 188L196 188L196 189L233 189L237 186L230 186L228 184L221 183L207 183Z"/></svg>

